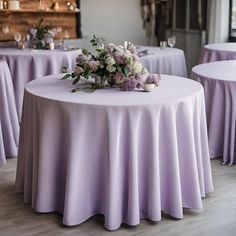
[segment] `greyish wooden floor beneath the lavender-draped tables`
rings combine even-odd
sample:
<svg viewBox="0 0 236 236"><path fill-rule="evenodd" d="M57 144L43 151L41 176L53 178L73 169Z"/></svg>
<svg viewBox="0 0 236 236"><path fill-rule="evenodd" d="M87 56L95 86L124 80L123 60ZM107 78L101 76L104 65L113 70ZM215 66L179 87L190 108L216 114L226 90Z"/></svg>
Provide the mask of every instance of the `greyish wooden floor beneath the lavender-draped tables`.
<svg viewBox="0 0 236 236"><path fill-rule="evenodd" d="M0 236L78 235L78 236L235 236L236 165L221 166L212 160L215 191L203 199L204 210L185 210L184 219L163 215L158 223L142 220L139 226L122 227L114 232L104 229L103 216L96 216L75 227L61 224L56 213L38 214L23 203L23 195L14 192L16 159L0 167Z"/></svg>

